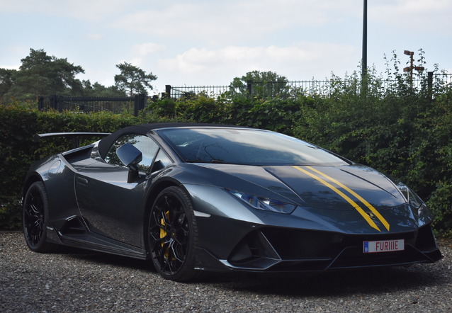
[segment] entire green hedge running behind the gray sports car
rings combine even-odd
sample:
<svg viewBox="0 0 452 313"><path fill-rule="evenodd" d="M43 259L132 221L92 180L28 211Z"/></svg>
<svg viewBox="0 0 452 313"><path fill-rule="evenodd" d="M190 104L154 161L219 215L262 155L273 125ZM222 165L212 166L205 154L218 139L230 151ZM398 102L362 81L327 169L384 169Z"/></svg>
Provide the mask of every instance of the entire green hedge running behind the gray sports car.
<svg viewBox="0 0 452 313"><path fill-rule="evenodd" d="M313 142L400 179L436 213L440 234L452 229L452 89L419 91L397 81L384 92L369 81L362 96L353 80L332 81L329 96L288 99L238 96L159 99L137 118L111 113L57 113L0 106L0 228L18 225L20 194L28 166L69 148L64 140L33 142L43 132L113 132L162 121L196 121L260 127Z"/></svg>

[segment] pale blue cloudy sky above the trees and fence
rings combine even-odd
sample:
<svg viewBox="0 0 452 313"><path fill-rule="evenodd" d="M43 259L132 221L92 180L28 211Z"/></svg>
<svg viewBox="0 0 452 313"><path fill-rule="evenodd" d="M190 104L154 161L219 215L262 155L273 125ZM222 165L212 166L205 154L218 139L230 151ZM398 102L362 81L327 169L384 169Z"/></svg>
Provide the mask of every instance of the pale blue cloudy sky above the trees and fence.
<svg viewBox="0 0 452 313"><path fill-rule="evenodd" d="M0 68L30 49L67 59L78 79L114 84L116 64L157 76L154 90L225 86L258 70L289 81L361 71L363 0L0 0ZM451 0L368 0L367 64L384 74L424 52L452 73ZM386 59L385 59L386 58Z"/></svg>

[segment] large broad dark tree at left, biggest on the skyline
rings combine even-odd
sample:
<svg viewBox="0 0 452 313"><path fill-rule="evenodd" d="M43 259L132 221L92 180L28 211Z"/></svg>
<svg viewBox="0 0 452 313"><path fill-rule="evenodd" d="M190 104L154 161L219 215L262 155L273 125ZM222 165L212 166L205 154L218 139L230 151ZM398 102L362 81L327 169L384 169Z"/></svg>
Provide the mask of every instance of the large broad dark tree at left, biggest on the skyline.
<svg viewBox="0 0 452 313"><path fill-rule="evenodd" d="M12 85L6 96L26 99L49 94L81 94L83 87L75 76L84 73L84 69L67 59L49 56L44 50L30 49L30 55L21 62L21 67L11 77Z"/></svg>

